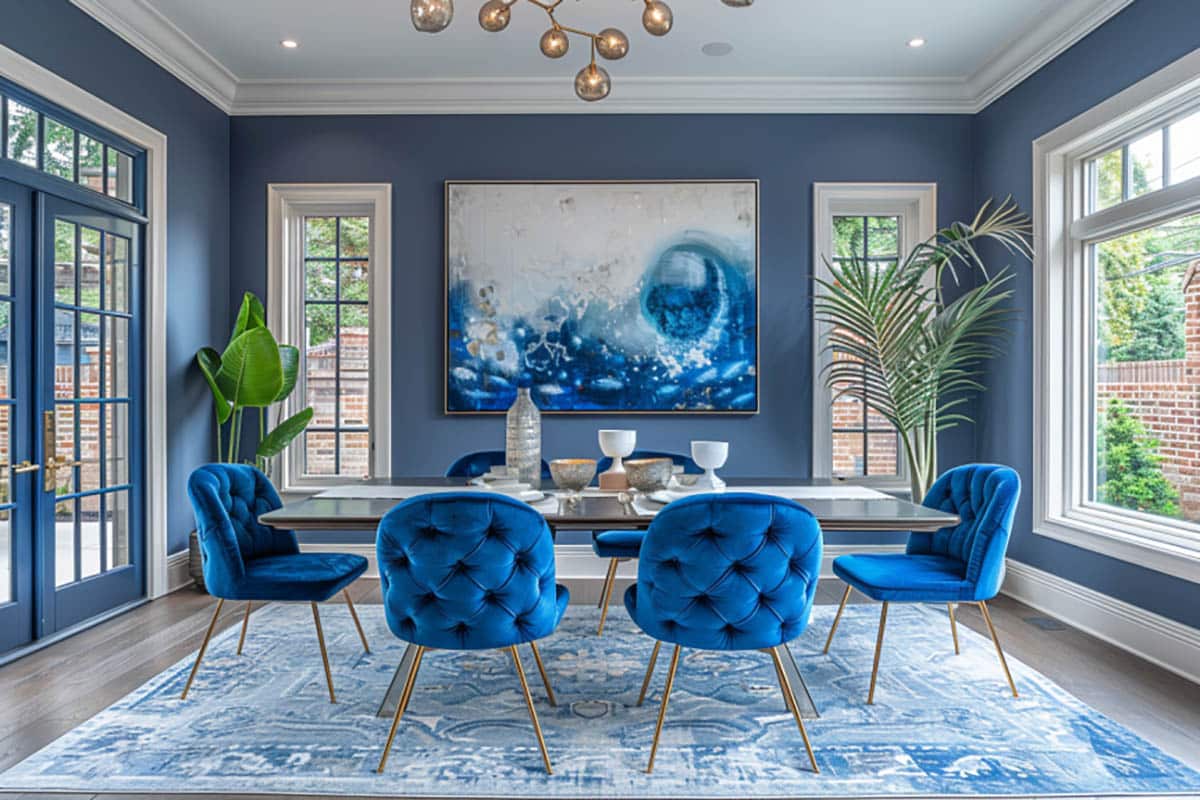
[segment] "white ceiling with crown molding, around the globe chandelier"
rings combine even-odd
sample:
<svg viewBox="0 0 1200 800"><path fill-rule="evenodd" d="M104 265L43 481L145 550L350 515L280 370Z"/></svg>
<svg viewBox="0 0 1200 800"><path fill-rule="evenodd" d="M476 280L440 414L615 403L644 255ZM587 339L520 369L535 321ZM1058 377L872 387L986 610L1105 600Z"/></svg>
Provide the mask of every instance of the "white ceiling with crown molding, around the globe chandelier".
<svg viewBox="0 0 1200 800"><path fill-rule="evenodd" d="M584 106L571 79L586 40L546 59L546 14L524 0L500 34L476 23L481 0L458 0L438 35L413 29L408 0L73 1L233 113L967 112L1129 2L672 0L674 30L658 38L641 28L642 0L565 0L564 25L616 26L631 40L629 56L605 64L612 97ZM907 47L914 36L925 47ZM704 55L709 42L733 52Z"/></svg>

